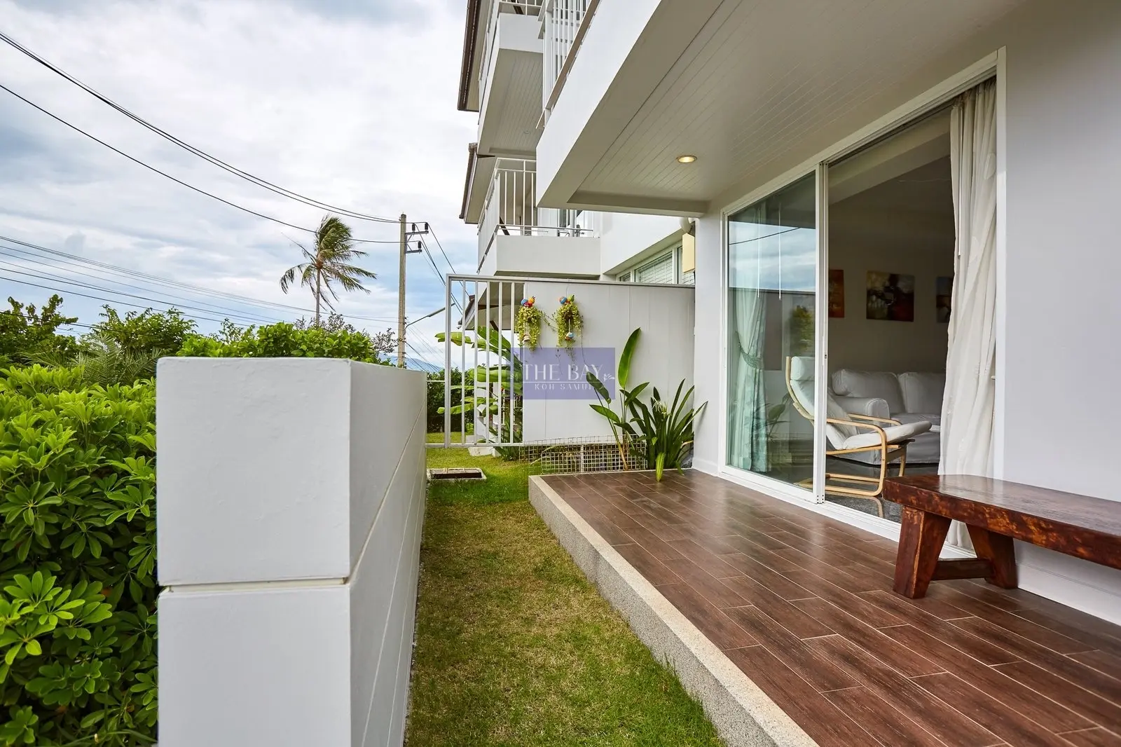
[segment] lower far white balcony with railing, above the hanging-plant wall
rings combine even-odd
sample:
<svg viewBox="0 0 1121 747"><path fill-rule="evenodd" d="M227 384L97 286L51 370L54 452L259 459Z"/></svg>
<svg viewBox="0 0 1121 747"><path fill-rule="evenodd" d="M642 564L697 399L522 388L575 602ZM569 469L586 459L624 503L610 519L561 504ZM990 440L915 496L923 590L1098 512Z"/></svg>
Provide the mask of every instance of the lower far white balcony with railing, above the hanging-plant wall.
<svg viewBox="0 0 1121 747"><path fill-rule="evenodd" d="M479 219L480 275L597 278L600 241L582 213L539 209L536 164L498 158Z"/></svg>

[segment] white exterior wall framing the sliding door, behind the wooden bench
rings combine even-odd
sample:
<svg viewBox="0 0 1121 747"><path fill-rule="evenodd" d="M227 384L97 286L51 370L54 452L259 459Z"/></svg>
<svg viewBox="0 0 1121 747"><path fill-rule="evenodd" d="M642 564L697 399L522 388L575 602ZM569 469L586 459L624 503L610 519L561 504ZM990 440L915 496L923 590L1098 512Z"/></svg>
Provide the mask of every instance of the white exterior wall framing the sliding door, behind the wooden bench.
<svg viewBox="0 0 1121 747"><path fill-rule="evenodd" d="M839 117L834 130L773 163L748 191L1001 47L1008 112L1001 477L1121 500L1114 473L1121 3L1026 3L991 33L948 48L891 101ZM697 224L697 395L714 407L724 402L717 365L724 206L713 204ZM716 469L723 439L715 421L697 435L696 464L706 471ZM1121 622L1121 572L1023 544L1017 552L1025 589Z"/></svg>

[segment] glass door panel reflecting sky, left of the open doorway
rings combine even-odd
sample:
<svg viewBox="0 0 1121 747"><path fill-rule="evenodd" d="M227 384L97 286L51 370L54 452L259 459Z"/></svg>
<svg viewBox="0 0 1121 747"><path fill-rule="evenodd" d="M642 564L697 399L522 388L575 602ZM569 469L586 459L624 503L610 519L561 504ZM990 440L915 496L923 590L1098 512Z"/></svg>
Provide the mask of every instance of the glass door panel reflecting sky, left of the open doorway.
<svg viewBox="0 0 1121 747"><path fill-rule="evenodd" d="M814 174L729 218L728 463L814 479Z"/></svg>

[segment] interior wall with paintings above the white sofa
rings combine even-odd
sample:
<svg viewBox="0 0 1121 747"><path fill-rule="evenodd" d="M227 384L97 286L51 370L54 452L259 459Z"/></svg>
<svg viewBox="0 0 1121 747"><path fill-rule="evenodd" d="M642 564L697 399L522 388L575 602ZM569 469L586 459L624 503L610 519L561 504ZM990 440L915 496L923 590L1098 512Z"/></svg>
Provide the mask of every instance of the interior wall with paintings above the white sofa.
<svg viewBox="0 0 1121 747"><path fill-rule="evenodd" d="M949 185L946 184L949 192ZM945 371L948 324L935 283L954 273L954 224L905 213L830 209L830 269L844 270L844 316L831 317L830 371ZM915 321L868 319L868 271L915 276Z"/></svg>

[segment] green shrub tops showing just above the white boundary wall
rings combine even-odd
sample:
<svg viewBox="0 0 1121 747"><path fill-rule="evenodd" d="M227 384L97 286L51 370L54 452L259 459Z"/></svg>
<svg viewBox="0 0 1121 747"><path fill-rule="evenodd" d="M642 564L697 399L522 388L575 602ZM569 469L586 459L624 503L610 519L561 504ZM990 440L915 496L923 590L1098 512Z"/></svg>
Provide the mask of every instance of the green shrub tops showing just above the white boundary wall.
<svg viewBox="0 0 1121 747"><path fill-rule="evenodd" d="M224 326L221 339L187 335L179 356L203 358L350 358L365 363L386 363L373 340L354 328L327 330L316 325L278 322L239 330Z"/></svg>

